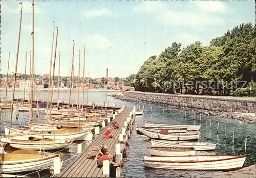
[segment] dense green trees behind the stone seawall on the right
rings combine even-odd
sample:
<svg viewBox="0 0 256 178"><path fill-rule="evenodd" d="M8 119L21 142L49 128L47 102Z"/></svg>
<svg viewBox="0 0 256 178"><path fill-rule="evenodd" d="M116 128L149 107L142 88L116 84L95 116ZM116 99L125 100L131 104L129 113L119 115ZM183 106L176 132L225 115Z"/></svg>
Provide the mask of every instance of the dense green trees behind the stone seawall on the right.
<svg viewBox="0 0 256 178"><path fill-rule="evenodd" d="M173 42L152 56L126 84L137 91L245 96L255 94L255 26L241 24L210 46L199 41L181 49Z"/></svg>

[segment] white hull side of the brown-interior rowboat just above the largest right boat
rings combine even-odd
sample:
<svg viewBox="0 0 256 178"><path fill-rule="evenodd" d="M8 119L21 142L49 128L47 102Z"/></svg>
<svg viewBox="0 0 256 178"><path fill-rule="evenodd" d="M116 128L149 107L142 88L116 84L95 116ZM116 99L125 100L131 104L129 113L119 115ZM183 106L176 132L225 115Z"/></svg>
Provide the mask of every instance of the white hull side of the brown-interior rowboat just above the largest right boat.
<svg viewBox="0 0 256 178"><path fill-rule="evenodd" d="M166 150L159 150L154 148L148 148L147 149L149 155L154 156L162 156L162 157L168 157L168 156L188 156L188 155L196 155L196 150L186 150L186 151L166 151Z"/></svg>

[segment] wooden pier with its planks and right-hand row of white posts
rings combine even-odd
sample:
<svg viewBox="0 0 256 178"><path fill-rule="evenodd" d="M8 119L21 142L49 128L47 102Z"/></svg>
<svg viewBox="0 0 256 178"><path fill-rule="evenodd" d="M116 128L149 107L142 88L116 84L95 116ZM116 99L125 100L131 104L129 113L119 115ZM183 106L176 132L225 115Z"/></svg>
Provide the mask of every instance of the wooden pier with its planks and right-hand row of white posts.
<svg viewBox="0 0 256 178"><path fill-rule="evenodd" d="M118 122L120 128L112 130L111 134L116 138L103 139L105 131L110 128L110 123L107 123L108 125L101 129L99 135L94 136L93 141L86 146L82 154L78 155L71 164L63 169L61 173L57 175L58 177L110 177L111 172L115 172L114 176L120 177L120 167L116 167L114 171L111 171L109 164L103 163L103 167L98 168L97 161L90 159L88 155L88 151L94 146L104 144L109 149L110 154L113 155L114 161L121 165L125 143L127 138L130 137L130 124L134 123L135 110L133 110L133 108L123 107L118 110L118 112L115 112L115 116L116 117L113 119Z"/></svg>

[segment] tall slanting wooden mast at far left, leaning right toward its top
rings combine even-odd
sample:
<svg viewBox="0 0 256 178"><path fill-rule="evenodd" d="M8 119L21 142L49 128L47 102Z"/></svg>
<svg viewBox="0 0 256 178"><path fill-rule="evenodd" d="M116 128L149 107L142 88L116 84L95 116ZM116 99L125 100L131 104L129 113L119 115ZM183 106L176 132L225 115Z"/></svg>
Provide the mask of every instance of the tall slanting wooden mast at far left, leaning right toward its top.
<svg viewBox="0 0 256 178"><path fill-rule="evenodd" d="M22 5L22 3L19 3L19 4ZM17 67L18 67L18 52L19 52L20 31L21 30L22 30L22 8L20 9L19 30L18 30L18 47L17 47L16 63L15 63L15 71L14 71L14 84L13 84L13 89L12 89L12 105L11 105L11 112L10 112L9 135L11 134L11 127L12 127L13 101L14 101L14 94L15 94L15 84L16 84L16 74L17 74Z"/></svg>

